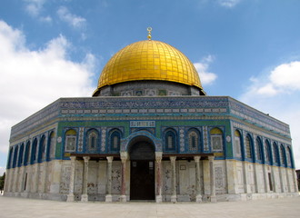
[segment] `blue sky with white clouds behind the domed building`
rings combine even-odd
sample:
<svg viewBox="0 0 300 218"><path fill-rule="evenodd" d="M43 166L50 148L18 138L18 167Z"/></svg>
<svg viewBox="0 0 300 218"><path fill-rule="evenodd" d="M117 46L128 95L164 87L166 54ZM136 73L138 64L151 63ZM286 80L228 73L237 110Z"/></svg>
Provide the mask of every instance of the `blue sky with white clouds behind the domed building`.
<svg viewBox="0 0 300 218"><path fill-rule="evenodd" d="M91 96L148 26L195 64L207 94L290 124L300 168L299 22L298 0L2 0L0 174L11 126L59 97Z"/></svg>

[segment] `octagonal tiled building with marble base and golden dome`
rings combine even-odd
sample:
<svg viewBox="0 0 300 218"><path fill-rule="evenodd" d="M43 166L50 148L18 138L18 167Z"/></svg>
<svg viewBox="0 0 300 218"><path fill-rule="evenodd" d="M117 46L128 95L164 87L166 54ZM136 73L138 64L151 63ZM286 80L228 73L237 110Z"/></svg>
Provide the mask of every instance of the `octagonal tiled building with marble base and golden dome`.
<svg viewBox="0 0 300 218"><path fill-rule="evenodd" d="M5 195L60 201L217 202L296 196L288 124L207 96L190 60L149 40L105 65L92 97L12 127Z"/></svg>

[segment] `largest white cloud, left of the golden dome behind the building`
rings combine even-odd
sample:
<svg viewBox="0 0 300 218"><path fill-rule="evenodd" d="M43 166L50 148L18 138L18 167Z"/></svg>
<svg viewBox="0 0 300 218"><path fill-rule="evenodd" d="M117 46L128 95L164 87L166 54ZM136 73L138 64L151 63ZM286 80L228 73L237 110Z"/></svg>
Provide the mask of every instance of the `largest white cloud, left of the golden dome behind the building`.
<svg viewBox="0 0 300 218"><path fill-rule="evenodd" d="M10 128L59 97L91 96L95 57L68 59L63 35L32 51L25 35L0 20L0 154L7 153Z"/></svg>

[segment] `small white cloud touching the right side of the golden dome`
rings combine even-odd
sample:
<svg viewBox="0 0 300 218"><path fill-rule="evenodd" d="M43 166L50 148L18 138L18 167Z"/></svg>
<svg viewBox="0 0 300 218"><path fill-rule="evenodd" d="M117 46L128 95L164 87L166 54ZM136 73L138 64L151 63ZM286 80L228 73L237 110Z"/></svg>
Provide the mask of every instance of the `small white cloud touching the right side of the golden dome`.
<svg viewBox="0 0 300 218"><path fill-rule="evenodd" d="M194 63L195 69L197 70L200 76L202 84L212 84L217 78L216 74L208 72L209 64L211 64L213 61L214 56L208 55L205 58L203 58L200 62Z"/></svg>

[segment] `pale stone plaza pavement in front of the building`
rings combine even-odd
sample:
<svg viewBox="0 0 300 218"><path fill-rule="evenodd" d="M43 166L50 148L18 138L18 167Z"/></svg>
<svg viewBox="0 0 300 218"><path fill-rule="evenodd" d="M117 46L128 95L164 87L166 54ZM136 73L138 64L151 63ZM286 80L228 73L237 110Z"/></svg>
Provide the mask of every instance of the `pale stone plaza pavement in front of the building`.
<svg viewBox="0 0 300 218"><path fill-rule="evenodd" d="M300 197L222 203L65 203L0 196L1 218L298 218Z"/></svg>

